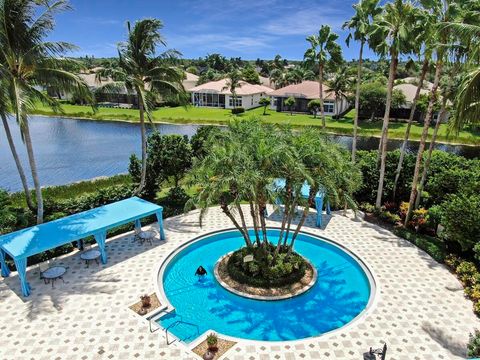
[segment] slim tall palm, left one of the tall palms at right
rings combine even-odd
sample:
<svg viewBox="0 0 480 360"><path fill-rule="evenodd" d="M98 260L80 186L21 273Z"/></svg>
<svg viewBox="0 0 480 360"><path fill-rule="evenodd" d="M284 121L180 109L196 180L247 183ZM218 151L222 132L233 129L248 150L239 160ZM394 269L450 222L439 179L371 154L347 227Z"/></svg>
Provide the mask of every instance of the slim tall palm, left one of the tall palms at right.
<svg viewBox="0 0 480 360"><path fill-rule="evenodd" d="M348 28L353 33L347 37L347 46L353 38L360 42L360 52L358 55L358 69L357 69L357 86L355 91L355 117L353 118L353 141L352 141L352 162L355 162L355 155L357 151L357 134L358 134L358 114L360 112L360 85L362 79L362 62L363 62L363 48L368 42L369 34L372 27L372 21L377 16L381 8L378 6L379 0L360 0L358 4L353 5L355 14L352 18L343 24L343 28Z"/></svg>

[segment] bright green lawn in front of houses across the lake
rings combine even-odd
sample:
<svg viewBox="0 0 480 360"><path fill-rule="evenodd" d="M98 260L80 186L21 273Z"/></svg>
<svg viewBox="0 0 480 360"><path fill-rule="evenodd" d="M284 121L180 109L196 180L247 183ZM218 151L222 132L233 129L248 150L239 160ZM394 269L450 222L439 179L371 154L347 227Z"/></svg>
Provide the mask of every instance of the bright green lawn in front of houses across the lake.
<svg viewBox="0 0 480 360"><path fill-rule="evenodd" d="M93 120L116 120L116 121L138 121L138 110L135 109L110 109L99 108L96 112L88 106L69 105L63 106L65 117L78 117ZM47 107L39 105L37 107L37 114L39 115L54 115L54 113ZM315 119L309 114L293 114L279 113L267 109L266 115L263 115L263 108L256 108L246 111L244 114L237 116L246 117L256 115L262 118L267 123L275 124L290 124L292 126L321 126L320 119ZM230 110L226 109L211 109L211 108L196 108L196 107L164 107L159 108L153 112L154 122L166 122L174 124L225 124L232 118ZM327 132L352 135L353 133L353 111L348 113L342 119L332 119L327 117ZM405 133L406 124L391 122L389 126L389 138L402 139ZM360 124L359 134L361 136L380 136L382 129L381 121L362 122ZM431 131L433 132L433 131ZM419 140L422 133L422 126L414 124L411 130L411 139ZM447 126L441 125L438 135L438 141L446 143L461 143L470 145L480 145L480 131L462 131L458 137L453 135L448 136Z"/></svg>

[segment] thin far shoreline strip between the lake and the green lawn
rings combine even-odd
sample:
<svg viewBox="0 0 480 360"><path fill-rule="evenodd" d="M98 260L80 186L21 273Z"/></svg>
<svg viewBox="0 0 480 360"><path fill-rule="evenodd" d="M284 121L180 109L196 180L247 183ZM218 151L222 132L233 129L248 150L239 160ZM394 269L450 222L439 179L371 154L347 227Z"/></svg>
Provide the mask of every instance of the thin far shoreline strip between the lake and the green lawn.
<svg viewBox="0 0 480 360"><path fill-rule="evenodd" d="M46 117L46 118L61 118L61 119L67 119L67 120L87 120L87 121L95 121L95 122L113 122L113 123L127 123L127 124L132 124L136 125L138 124L138 121L135 120L122 120L122 119L95 119L91 117L80 117L80 116L72 116L72 115L64 115L64 114L53 114L53 115L45 115L45 114L36 114L34 113L33 115L35 116L41 116L41 117ZM152 124L158 124L158 125L196 125L196 126L207 126L207 125L212 125L212 126L226 126L226 122L224 121L210 121L210 120L169 120L169 119L161 119L161 120L153 120ZM291 125L293 128L301 128L302 125ZM305 126L314 126L314 127L321 127L320 125L315 126L315 125L305 125ZM328 135L336 135L336 136L347 136L353 138L353 135L350 133L342 133L342 132L336 132L336 131L329 131L328 128L325 130L325 133ZM363 138L375 138L375 139L380 139L380 135L376 134L362 134L361 129L359 132L358 137L363 137ZM397 141L402 141L403 137L389 137L389 140L397 140ZM430 139L427 139L427 143L430 143ZM409 142L420 142L420 139L417 139L416 137L409 139ZM445 140L437 140L435 141L437 144L443 144L443 145L452 145L452 146L468 146L468 147L479 147L480 148L480 138L478 140L478 144L472 144L472 143L462 143L462 142L454 142L454 141L445 141Z"/></svg>

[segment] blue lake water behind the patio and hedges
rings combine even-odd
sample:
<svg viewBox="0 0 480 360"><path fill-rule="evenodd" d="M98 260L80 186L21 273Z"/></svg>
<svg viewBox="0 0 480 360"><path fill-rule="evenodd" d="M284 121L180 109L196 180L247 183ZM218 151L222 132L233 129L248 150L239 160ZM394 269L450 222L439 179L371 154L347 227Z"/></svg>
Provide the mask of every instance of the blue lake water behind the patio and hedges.
<svg viewBox="0 0 480 360"><path fill-rule="evenodd" d="M1 126L0 126L1 127ZM192 136L199 125L156 125L163 134ZM24 163L26 151L18 126L10 120L17 151ZM42 185L63 185L75 181L111 176L127 172L128 159L140 152L140 131L137 125L121 122L95 122L62 118L32 117L30 131ZM338 142L351 147L352 138L335 136ZM400 141L389 141L389 149L398 148ZM417 144L411 144L415 151ZM438 145L441 150L468 158L478 157L480 147ZM360 138L359 149L378 148L378 139ZM0 129L0 188L21 190L5 132Z"/></svg>

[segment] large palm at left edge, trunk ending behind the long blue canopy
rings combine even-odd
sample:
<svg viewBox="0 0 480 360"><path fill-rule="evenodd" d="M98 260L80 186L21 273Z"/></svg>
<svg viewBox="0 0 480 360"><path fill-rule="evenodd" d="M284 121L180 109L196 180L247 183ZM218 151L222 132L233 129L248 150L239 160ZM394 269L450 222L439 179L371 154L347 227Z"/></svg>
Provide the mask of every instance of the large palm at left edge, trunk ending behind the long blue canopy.
<svg viewBox="0 0 480 360"><path fill-rule="evenodd" d="M4 0L0 3L0 74L8 92L9 107L27 148L35 186L37 223L43 222L43 197L28 115L38 102L55 111L61 110L57 100L38 88L50 88L54 92L91 100L87 85L78 76L63 70L72 61L60 56L74 47L65 42L45 40L54 29L54 15L68 9L64 0L53 3Z"/></svg>

